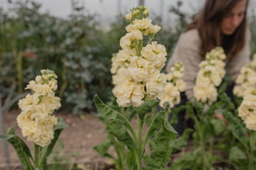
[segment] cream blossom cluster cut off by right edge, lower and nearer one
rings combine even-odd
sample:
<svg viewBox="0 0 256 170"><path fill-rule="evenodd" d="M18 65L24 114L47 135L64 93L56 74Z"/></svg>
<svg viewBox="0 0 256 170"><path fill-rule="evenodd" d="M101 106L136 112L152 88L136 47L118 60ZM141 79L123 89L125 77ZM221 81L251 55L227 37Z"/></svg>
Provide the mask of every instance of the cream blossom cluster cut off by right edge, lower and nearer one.
<svg viewBox="0 0 256 170"><path fill-rule="evenodd" d="M250 77L249 83L254 89L248 90L238 108L238 116L246 124L246 128L256 130L256 77Z"/></svg>

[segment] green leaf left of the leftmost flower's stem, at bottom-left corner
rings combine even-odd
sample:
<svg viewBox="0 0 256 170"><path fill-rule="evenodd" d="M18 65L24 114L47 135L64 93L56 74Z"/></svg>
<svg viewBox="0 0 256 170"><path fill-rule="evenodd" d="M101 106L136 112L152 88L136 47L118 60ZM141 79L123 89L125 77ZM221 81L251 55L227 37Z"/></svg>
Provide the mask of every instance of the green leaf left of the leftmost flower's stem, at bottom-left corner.
<svg viewBox="0 0 256 170"><path fill-rule="evenodd" d="M18 158L22 164L22 167L25 169L30 169L31 163L29 158L33 160L33 157L30 153L30 148L27 147L26 143L21 138L15 135L15 128L9 128L6 135L0 135L0 138L7 140L10 144L13 145L15 151L18 154Z"/></svg>

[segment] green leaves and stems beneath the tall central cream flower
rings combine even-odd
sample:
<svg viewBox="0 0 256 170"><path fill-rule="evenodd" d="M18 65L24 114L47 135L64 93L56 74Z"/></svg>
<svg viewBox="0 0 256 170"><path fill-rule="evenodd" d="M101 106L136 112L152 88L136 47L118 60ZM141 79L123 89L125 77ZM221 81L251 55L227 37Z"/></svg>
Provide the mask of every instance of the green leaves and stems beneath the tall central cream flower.
<svg viewBox="0 0 256 170"><path fill-rule="evenodd" d="M110 145L113 144L118 153L118 158L115 159L117 169L142 169L142 160L145 161L145 169L148 170L166 167L170 162L170 154L174 148L173 141L177 136L177 132L165 119L166 110L157 113L154 120L150 121L146 136L142 140L142 126L146 113L158 105L158 101L146 101L138 107L138 134L122 113L105 105L98 96L94 97L94 103L108 132L108 140L94 146L94 149L102 156L114 158L107 152ZM148 141L150 144L149 155L145 152ZM124 164L125 160L126 164Z"/></svg>

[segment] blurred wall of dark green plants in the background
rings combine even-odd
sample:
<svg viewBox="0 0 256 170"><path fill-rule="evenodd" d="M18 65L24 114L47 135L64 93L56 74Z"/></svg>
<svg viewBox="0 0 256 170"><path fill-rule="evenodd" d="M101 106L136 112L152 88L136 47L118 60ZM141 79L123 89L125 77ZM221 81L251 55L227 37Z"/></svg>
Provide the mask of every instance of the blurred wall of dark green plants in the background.
<svg viewBox="0 0 256 170"><path fill-rule="evenodd" d="M118 15L108 29L96 22L96 15L86 14L78 0L71 0L72 14L66 19L40 12L34 0L9 1L9 9L0 7L0 93L2 102L24 93L26 83L41 69L58 75L57 96L62 98L62 111L83 114L95 110L94 94L102 101L111 101L111 57L120 47L127 22ZM170 7L178 16L174 26L162 26L161 18L150 16L162 30L156 41L166 46L168 57L173 53L179 34L191 18L182 1ZM158 22L157 22L158 21ZM256 21L250 18L252 53L256 52ZM164 70L164 69L162 69ZM10 87L14 89L10 92ZM17 107L17 106L16 106ZM15 105L14 105L15 108Z"/></svg>

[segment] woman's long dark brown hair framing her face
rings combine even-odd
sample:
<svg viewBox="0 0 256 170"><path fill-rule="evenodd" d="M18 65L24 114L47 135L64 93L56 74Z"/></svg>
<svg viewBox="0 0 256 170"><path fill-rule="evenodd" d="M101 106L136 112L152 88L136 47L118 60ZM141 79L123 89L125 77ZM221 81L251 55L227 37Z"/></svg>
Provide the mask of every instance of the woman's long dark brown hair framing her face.
<svg viewBox="0 0 256 170"><path fill-rule="evenodd" d="M239 1L241 0L206 0L206 5L201 14L198 15L198 18L195 18L190 25L186 26L186 30L198 29L201 39L200 52L202 57L211 49L214 49L215 46L222 46L227 57L235 57L239 51L241 51L245 44L246 14L234 34L224 36L221 34L220 30L222 18L224 18ZM247 4L248 1L249 0L247 0Z"/></svg>

